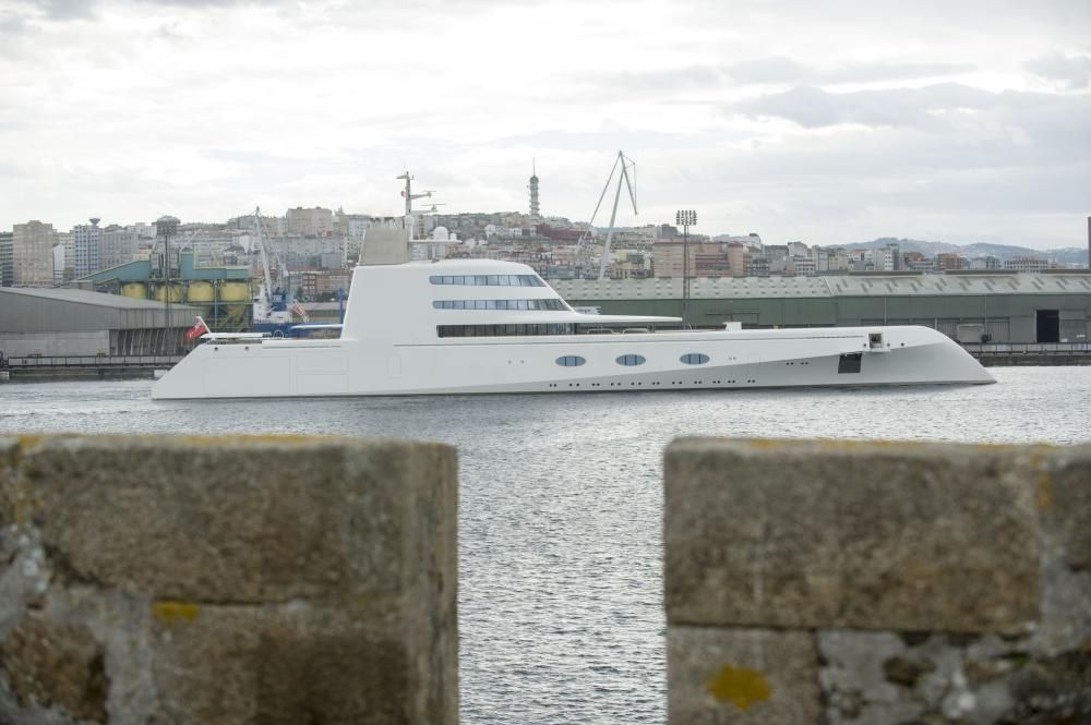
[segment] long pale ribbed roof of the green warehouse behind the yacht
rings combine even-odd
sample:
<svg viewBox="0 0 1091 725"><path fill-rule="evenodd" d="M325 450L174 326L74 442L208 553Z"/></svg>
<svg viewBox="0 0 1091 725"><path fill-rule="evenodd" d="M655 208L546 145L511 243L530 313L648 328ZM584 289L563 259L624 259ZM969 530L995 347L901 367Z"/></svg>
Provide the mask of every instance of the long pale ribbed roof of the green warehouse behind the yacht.
<svg viewBox="0 0 1091 725"><path fill-rule="evenodd" d="M672 299L681 278L551 279L566 300ZM831 275L825 277L703 277L690 280L693 299L950 297L981 294L1091 294L1091 273L1064 275Z"/></svg>

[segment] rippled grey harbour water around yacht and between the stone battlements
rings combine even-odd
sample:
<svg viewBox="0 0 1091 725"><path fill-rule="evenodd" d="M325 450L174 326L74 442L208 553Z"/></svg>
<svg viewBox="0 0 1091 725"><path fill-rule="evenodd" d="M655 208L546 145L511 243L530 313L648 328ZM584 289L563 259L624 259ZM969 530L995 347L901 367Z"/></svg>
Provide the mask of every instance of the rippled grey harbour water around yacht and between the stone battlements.
<svg viewBox="0 0 1091 725"><path fill-rule="evenodd" d="M661 723L660 459L678 435L1091 440L1091 367L999 385L152 402L151 383L0 384L0 433L321 433L459 451L461 722Z"/></svg>

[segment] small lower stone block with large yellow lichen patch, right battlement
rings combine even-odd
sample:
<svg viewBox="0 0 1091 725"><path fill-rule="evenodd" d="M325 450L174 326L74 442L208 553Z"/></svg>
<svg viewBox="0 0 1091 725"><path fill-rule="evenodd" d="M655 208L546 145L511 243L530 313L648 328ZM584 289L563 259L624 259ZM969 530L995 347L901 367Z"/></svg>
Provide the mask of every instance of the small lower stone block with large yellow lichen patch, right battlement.
<svg viewBox="0 0 1091 725"><path fill-rule="evenodd" d="M812 725L823 712L817 661L811 632L671 625L668 720Z"/></svg>

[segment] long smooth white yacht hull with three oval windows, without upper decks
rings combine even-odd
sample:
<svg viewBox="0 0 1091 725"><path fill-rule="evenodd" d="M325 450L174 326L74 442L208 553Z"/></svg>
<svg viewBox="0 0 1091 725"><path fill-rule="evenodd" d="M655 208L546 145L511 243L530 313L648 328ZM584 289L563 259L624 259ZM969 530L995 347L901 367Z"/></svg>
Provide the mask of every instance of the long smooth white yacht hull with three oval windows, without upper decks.
<svg viewBox="0 0 1091 725"><path fill-rule="evenodd" d="M562 360L578 364L561 364ZM632 364L639 360L637 364ZM684 361L697 361L687 364ZM630 364L625 364L630 363ZM155 399L602 392L988 384L925 327L453 338L209 341Z"/></svg>

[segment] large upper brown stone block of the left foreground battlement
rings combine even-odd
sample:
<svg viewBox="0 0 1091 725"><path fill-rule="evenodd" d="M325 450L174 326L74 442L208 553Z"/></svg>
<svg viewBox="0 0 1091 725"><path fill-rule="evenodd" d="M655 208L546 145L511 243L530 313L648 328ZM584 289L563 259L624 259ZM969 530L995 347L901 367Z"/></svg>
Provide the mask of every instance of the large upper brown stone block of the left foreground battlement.
<svg viewBox="0 0 1091 725"><path fill-rule="evenodd" d="M395 440L51 437L22 487L62 575L206 603L453 601L454 451Z"/></svg>

